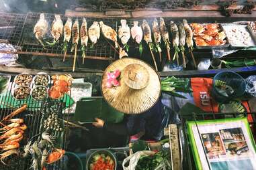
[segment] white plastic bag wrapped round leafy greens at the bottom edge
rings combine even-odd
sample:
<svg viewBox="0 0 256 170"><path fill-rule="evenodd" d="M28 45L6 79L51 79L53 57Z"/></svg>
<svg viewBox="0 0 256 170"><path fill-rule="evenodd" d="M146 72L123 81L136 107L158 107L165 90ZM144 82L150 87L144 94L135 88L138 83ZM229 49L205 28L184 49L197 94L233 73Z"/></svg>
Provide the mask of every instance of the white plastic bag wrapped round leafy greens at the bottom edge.
<svg viewBox="0 0 256 170"><path fill-rule="evenodd" d="M126 159L124 159L124 161L122 163L122 167L124 170L134 170L134 169L136 169L136 166L137 166L137 163L138 163L138 160L140 159L140 157L153 155L153 154L155 154L155 152L153 152L153 151L138 151L138 152L130 155L129 157L126 157ZM126 163L128 163L128 162L129 162L128 167L125 167Z"/></svg>

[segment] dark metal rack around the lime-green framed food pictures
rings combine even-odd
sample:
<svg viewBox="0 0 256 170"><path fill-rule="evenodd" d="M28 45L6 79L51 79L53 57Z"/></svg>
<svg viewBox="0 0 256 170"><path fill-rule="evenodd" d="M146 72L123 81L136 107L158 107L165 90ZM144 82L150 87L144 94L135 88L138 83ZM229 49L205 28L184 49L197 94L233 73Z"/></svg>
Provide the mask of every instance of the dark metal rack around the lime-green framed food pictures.
<svg viewBox="0 0 256 170"><path fill-rule="evenodd" d="M256 129L256 112L249 112L249 113L239 113L239 112L230 112L230 113L192 113L192 114L187 114L187 115L181 115L181 126L179 127L179 141L182 143L181 151L182 155L185 155L181 157L181 160L183 160L182 165L183 167L188 167L187 169L189 170L195 170L196 165L194 163L194 157L193 153L191 153L191 145L189 143L188 139L188 133L187 133L187 126L186 126L186 121L198 121L198 120L215 120L218 118L237 118L237 117L251 117L252 121L249 122L249 125L251 129L254 131L253 137L256 139L256 134L255 134L255 129ZM183 131L183 140L181 139L181 131Z"/></svg>

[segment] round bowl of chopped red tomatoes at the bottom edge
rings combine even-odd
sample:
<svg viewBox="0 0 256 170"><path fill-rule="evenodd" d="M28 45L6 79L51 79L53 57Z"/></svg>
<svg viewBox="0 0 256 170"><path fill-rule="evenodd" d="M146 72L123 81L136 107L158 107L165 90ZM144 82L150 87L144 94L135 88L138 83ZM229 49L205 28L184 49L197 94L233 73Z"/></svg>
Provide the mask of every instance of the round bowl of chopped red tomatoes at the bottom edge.
<svg viewBox="0 0 256 170"><path fill-rule="evenodd" d="M94 151L87 159L88 170L116 170L116 156L109 150Z"/></svg>

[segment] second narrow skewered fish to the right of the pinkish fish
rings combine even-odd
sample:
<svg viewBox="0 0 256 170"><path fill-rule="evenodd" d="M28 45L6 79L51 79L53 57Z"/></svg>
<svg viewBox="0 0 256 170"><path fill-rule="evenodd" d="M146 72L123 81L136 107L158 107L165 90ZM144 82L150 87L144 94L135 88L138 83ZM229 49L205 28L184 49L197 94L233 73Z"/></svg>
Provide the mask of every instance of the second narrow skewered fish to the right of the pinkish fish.
<svg viewBox="0 0 256 170"><path fill-rule="evenodd" d="M157 51L159 52L159 59L160 62L162 62L162 50L160 47L161 44L161 33L160 33L160 29L159 29L159 25L158 25L158 21L155 18L153 23L152 23L152 29L153 29L153 36L154 36L154 41L155 41L155 45L157 47Z"/></svg>

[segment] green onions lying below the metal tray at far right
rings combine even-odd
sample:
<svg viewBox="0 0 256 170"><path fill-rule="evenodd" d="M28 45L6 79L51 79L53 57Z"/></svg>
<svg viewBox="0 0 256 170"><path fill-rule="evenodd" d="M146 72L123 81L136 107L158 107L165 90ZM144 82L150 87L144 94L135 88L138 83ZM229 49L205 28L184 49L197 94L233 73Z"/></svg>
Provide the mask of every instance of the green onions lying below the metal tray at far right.
<svg viewBox="0 0 256 170"><path fill-rule="evenodd" d="M241 60L230 60L230 61L221 61L225 64L226 68L239 68L243 66L255 66L256 60L255 59L241 59Z"/></svg>

